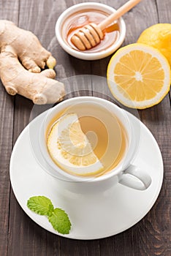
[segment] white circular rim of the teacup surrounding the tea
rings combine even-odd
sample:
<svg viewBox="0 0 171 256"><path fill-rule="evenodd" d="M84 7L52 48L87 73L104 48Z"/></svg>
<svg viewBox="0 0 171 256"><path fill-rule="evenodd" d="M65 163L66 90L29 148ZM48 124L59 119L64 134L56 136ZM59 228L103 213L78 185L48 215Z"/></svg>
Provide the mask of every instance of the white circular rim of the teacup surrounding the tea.
<svg viewBox="0 0 171 256"><path fill-rule="evenodd" d="M50 123L50 120L54 116L56 116L57 113L60 113L62 110L66 109L67 107L72 105L73 102L75 104L80 103L80 100L81 100L81 102L100 103L100 105L103 103L101 105L102 107L103 106L106 107L106 105L107 105L108 107L112 108L113 109L112 112L115 114L115 116L118 116L119 120L125 127L126 132L129 137L129 143L128 143L129 145L128 145L128 148L126 150L125 156L123 157L122 161L119 162L119 164L113 170L110 170L110 172L108 172L108 173L102 174L102 176L81 177L81 176L74 176L72 174L69 174L64 170L61 170L61 168L58 167L55 164L55 162L53 162L53 159L50 158L50 155L47 151L45 134L47 131L47 126ZM108 110L108 108L107 108L107 110ZM126 123L125 122L123 123L123 119L124 119L124 121L127 121L127 124L128 124L127 127L126 127ZM39 149L42 154L42 157L44 157L44 159L45 159L45 162L47 162L47 165L49 165L51 168L53 168L53 170L55 170L55 172L58 172L60 176L69 178L69 181L102 181L102 180L105 180L112 176L117 176L118 173L121 173L121 171L123 171L123 167L125 169L126 167L128 167L130 165L130 162L134 157L135 142L134 142L132 125L130 124L129 117L127 116L125 110L123 110L122 108L119 108L117 105L108 101L107 99L102 99L102 98L93 97L93 96L88 96L88 97L86 96L86 97L74 97L71 99L66 99L66 100L64 100L64 102L60 102L55 107L50 108L50 110L47 110L47 115L45 115L45 118L42 121L42 125L41 125L40 131L39 131ZM129 154L128 154L128 152L129 152ZM124 165L123 165L123 162L124 162ZM54 174L54 172L52 173L50 171L50 168L48 168L48 170L46 168L44 168L44 169L51 176L55 176L56 178L58 178L57 173L56 173L56 175ZM68 181L68 180L66 180L66 181Z"/></svg>

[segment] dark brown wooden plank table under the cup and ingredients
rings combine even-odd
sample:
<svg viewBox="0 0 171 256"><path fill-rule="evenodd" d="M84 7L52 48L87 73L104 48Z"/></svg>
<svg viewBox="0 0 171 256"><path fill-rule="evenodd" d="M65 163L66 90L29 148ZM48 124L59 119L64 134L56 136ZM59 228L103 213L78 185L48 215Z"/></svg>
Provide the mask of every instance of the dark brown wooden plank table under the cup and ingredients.
<svg viewBox="0 0 171 256"><path fill-rule="evenodd" d="M96 0L94 0L96 1ZM82 61L61 49L55 37L58 16L80 0L1 0L0 18L12 20L39 37L58 60L57 78L72 75L106 76L108 58ZM126 0L102 0L115 9ZM143 29L154 23L171 23L171 0L144 0L124 15L126 39L136 42ZM164 183L151 211L134 227L110 238L78 241L56 236L35 224L20 208L9 181L9 159L15 140L29 122L33 104L20 96L11 97L0 86L0 256L170 256L171 255L171 116L170 94L153 108L139 111L151 130L164 160Z"/></svg>

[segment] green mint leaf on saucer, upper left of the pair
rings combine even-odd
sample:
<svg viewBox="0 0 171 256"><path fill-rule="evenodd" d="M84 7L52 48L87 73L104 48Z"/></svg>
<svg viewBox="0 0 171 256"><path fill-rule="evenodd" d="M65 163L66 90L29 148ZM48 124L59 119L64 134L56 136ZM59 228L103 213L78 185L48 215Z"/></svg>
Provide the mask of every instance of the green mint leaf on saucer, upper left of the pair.
<svg viewBox="0 0 171 256"><path fill-rule="evenodd" d="M27 206L31 211L40 215L51 216L54 210L50 199L43 195L30 197L27 201Z"/></svg>

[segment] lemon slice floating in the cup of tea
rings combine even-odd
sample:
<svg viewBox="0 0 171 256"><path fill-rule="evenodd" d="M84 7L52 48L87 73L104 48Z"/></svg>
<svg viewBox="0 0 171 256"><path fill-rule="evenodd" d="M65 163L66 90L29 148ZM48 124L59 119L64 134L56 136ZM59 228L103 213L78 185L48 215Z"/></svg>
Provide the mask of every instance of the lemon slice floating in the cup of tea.
<svg viewBox="0 0 171 256"><path fill-rule="evenodd" d="M104 169L75 113L68 113L56 121L47 137L47 148L56 165L68 173L94 176Z"/></svg>

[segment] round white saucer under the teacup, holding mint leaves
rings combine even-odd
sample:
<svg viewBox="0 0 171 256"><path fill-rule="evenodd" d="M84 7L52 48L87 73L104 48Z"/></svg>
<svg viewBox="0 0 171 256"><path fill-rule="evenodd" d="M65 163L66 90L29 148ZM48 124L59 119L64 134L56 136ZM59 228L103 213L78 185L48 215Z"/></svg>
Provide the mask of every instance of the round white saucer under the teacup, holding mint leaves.
<svg viewBox="0 0 171 256"><path fill-rule="evenodd" d="M27 208L28 198L34 195L45 195L55 207L66 211L72 222L69 235L64 235L67 238L96 239L113 236L132 227L148 213L161 189L163 162L159 146L148 128L131 114L129 117L135 126L141 125L140 147L134 164L151 175L152 184L145 191L117 184L95 195L77 195L58 187L55 179L39 166L31 149L29 127L34 128L36 135L43 114L28 124L12 151L10 179L18 203L34 222L45 230L63 236L53 230L46 217L34 214Z"/></svg>

